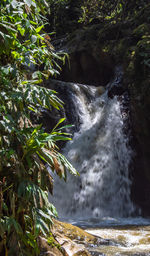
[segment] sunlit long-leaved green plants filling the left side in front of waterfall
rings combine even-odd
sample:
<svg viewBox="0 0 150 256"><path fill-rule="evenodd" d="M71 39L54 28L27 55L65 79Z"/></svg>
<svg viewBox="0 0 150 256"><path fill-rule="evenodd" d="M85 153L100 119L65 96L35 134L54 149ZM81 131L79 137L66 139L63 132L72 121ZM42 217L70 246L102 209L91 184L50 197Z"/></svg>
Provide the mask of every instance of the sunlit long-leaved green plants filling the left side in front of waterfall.
<svg viewBox="0 0 150 256"><path fill-rule="evenodd" d="M60 110L57 93L40 84L61 70L57 53L44 32L45 0L0 3L0 255L38 255L37 238L50 232L55 207L48 201L53 178L66 180L76 170L58 152L59 140L70 140L65 126L45 133L31 113Z"/></svg>

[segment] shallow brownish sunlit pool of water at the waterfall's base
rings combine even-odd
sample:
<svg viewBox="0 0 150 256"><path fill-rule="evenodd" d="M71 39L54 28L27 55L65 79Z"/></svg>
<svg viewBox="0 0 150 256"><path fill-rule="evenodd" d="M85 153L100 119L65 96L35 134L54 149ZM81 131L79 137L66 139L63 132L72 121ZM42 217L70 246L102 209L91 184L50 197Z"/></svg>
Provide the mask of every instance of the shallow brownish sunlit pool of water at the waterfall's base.
<svg viewBox="0 0 150 256"><path fill-rule="evenodd" d="M149 218L103 218L70 222L108 241L90 247L93 256L150 256Z"/></svg>

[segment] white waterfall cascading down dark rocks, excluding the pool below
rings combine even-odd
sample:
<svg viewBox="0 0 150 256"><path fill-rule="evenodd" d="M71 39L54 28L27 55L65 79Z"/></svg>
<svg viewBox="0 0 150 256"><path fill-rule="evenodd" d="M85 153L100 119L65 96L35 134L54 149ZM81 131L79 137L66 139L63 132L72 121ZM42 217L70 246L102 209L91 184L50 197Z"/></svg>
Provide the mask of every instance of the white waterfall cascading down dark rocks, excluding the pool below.
<svg viewBox="0 0 150 256"><path fill-rule="evenodd" d="M121 72L107 86L121 83ZM134 212L130 199L129 166L132 149L124 132L122 103L108 97L107 89L71 84L80 129L63 149L63 154L80 173L68 181L55 178L54 204L60 218L86 219L128 217ZM71 113L72 115L74 113Z"/></svg>

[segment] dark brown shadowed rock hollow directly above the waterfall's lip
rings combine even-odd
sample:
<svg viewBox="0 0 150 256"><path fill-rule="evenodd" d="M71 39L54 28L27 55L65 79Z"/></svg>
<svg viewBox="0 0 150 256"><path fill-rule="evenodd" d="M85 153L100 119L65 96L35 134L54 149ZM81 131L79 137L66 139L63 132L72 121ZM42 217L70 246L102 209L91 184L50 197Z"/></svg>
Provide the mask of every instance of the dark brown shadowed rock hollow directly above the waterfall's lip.
<svg viewBox="0 0 150 256"><path fill-rule="evenodd" d="M96 58L93 49L79 49L70 54L70 68L66 64L59 79L66 82L105 86L113 74L111 58L102 51Z"/></svg>

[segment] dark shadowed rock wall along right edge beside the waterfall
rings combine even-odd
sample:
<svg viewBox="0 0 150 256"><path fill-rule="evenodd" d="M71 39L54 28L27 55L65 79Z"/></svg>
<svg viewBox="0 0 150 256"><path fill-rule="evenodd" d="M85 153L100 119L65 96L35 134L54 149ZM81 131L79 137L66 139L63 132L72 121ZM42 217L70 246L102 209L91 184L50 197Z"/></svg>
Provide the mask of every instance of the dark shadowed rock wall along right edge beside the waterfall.
<svg viewBox="0 0 150 256"><path fill-rule="evenodd" d="M147 10L148 11L148 10ZM148 11L150 15L150 10ZM146 14L146 13L145 13ZM125 83L131 99L132 130L134 135L134 159L132 197L144 216L150 215L150 24L140 17L131 34L132 46L128 48ZM134 47L133 47L134 45ZM131 55L129 56L129 49Z"/></svg>

